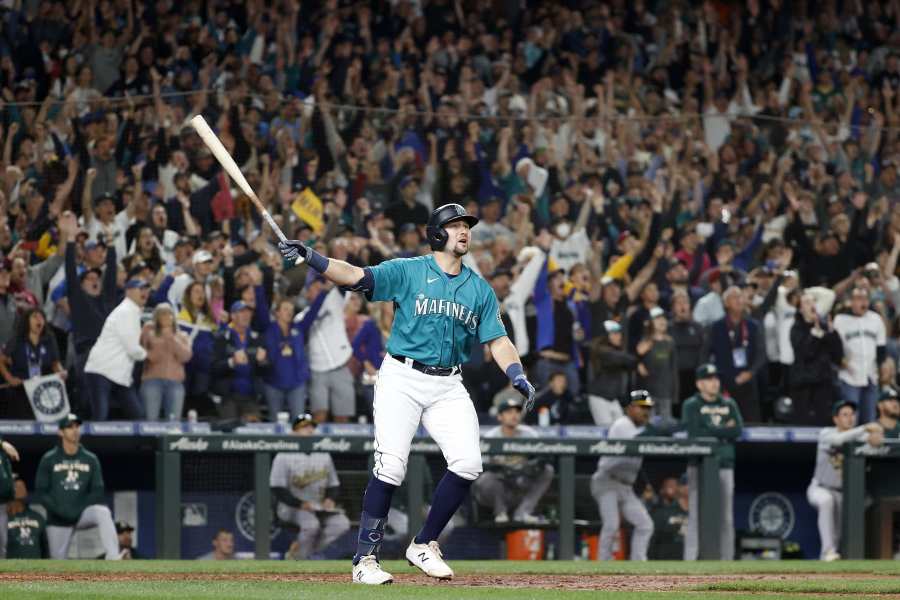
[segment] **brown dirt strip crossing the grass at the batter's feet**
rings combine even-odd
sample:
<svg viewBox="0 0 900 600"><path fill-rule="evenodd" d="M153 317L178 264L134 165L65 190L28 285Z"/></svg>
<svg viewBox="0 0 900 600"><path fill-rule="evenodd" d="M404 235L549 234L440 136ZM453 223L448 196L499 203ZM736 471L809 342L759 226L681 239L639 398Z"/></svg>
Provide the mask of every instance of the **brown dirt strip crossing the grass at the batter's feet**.
<svg viewBox="0 0 900 600"><path fill-rule="evenodd" d="M873 575L867 573L834 574L754 574L754 575L460 575L452 581L436 582L422 574L399 574L399 585L445 585L448 587L538 588L555 590L604 590L619 592L687 591L696 586L735 581L796 581L797 579L843 579L866 581L870 579L900 578L897 575ZM342 573L0 573L2 583L53 582L160 582L160 581L235 581L235 582L297 582L297 583L350 583L350 574ZM744 592L753 593L753 592ZM803 594L815 597L815 594ZM848 596L852 596L849 594ZM879 599L900 600L900 594L877 594Z"/></svg>

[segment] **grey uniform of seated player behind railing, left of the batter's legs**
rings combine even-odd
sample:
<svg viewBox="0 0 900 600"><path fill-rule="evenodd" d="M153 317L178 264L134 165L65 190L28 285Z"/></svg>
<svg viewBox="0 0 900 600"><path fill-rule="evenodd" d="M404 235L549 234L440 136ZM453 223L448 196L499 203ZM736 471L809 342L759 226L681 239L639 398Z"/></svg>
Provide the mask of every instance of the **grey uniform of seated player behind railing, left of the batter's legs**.
<svg viewBox="0 0 900 600"><path fill-rule="evenodd" d="M331 456L325 452L279 452L272 462L271 487L283 487L301 502L321 507L327 488L340 484ZM309 558L350 529L343 511L304 510L278 503L276 514L281 521L295 523L299 549L297 557Z"/></svg>

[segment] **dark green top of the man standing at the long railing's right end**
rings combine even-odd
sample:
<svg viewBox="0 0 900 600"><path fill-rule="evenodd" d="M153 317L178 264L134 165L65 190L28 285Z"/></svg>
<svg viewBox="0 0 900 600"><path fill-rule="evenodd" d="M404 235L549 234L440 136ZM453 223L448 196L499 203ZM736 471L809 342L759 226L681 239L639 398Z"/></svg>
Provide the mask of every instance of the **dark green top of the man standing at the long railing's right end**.
<svg viewBox="0 0 900 600"><path fill-rule="evenodd" d="M684 401L681 423L689 437L714 437L719 440L716 456L720 469L734 468L734 440L741 437L744 420L731 398L717 396L707 402L699 393Z"/></svg>

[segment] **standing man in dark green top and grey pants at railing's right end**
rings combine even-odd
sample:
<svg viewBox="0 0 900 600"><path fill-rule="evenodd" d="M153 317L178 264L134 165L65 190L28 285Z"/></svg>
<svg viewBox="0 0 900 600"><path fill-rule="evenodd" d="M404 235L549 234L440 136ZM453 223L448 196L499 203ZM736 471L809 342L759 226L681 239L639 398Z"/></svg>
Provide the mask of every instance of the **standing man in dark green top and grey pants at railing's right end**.
<svg viewBox="0 0 900 600"><path fill-rule="evenodd" d="M734 440L741 437L744 419L737 403L720 394L721 382L716 365L697 367L697 393L684 401L681 422L688 437L714 437L719 444L719 493L722 502L722 525L719 552L722 560L734 560ZM695 465L688 466L688 528L684 537L684 559L697 560L699 552L700 475Z"/></svg>

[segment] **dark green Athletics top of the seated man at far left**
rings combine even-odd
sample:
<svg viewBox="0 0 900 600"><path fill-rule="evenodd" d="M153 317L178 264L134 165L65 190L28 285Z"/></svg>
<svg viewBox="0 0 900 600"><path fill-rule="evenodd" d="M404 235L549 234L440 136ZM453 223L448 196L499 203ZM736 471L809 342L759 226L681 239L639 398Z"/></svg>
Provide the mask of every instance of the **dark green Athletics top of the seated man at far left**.
<svg viewBox="0 0 900 600"><path fill-rule="evenodd" d="M100 461L83 446L72 455L57 446L41 458L35 493L49 525L75 525L85 508L102 503L103 491Z"/></svg>

